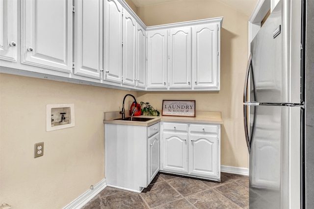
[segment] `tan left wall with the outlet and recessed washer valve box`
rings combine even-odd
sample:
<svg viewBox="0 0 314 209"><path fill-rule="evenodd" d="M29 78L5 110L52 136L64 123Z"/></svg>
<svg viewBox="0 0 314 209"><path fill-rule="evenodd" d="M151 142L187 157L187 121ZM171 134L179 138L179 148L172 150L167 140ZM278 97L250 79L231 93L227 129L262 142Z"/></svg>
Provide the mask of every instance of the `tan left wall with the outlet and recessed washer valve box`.
<svg viewBox="0 0 314 209"><path fill-rule="evenodd" d="M61 209L104 179L103 113L118 111L126 93L136 95L0 74L0 204ZM74 103L75 127L46 132L46 105L65 103ZM42 141L44 156L34 158Z"/></svg>

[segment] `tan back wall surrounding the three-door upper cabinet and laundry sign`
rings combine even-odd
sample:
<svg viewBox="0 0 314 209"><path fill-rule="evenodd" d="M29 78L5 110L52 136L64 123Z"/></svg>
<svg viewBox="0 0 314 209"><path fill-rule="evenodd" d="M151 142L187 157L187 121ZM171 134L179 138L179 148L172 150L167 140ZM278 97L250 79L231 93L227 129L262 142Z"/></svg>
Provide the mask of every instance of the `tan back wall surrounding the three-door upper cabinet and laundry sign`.
<svg viewBox="0 0 314 209"><path fill-rule="evenodd" d="M138 93L161 109L162 99L195 99L196 110L221 112L221 164L248 167L243 128L243 85L248 57L248 18L214 0L178 0L139 7L137 12L147 25L176 23L224 17L221 29L221 90L218 93Z"/></svg>

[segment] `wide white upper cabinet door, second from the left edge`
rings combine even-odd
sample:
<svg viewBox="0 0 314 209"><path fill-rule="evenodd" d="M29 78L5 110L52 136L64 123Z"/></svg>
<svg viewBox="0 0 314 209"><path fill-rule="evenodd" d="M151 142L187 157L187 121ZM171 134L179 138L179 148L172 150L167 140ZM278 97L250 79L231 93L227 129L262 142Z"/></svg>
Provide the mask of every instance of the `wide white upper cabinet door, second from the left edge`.
<svg viewBox="0 0 314 209"><path fill-rule="evenodd" d="M72 72L72 1L21 1L21 62Z"/></svg>

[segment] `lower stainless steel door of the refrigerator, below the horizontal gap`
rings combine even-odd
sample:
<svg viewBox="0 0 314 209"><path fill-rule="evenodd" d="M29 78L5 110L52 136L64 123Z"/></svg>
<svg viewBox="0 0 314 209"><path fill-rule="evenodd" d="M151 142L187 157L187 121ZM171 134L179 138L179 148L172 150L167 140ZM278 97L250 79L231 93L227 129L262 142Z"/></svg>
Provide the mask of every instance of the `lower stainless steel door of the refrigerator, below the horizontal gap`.
<svg viewBox="0 0 314 209"><path fill-rule="evenodd" d="M300 107L255 109L250 209L294 209L300 206Z"/></svg>

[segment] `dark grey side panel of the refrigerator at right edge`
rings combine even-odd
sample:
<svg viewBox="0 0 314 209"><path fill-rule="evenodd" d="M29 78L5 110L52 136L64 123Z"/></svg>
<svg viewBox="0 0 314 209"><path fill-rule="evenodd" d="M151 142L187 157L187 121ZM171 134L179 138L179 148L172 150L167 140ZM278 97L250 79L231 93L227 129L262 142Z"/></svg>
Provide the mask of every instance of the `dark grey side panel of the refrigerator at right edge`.
<svg viewBox="0 0 314 209"><path fill-rule="evenodd" d="M302 201L304 209L314 209L314 0L304 6L303 66L305 69L305 130L302 146Z"/></svg>

